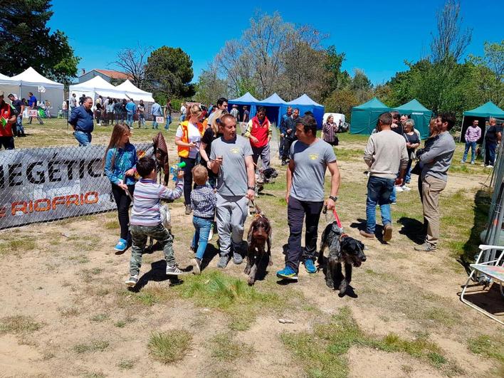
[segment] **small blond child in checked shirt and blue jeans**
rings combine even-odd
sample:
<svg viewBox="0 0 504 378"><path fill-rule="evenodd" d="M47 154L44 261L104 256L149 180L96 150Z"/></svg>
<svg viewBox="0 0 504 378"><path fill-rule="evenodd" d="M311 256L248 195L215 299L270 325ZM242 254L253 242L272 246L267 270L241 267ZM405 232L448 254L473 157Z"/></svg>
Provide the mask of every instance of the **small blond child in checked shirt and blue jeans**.
<svg viewBox="0 0 504 378"><path fill-rule="evenodd" d="M194 225L194 236L192 238L191 249L196 252L196 258L191 263L193 273L201 273L201 260L205 253L206 244L209 241L211 226L214 224L215 205L217 197L214 189L206 185L209 179L207 169L198 164L192 169L192 178L195 187L191 191L192 224Z"/></svg>

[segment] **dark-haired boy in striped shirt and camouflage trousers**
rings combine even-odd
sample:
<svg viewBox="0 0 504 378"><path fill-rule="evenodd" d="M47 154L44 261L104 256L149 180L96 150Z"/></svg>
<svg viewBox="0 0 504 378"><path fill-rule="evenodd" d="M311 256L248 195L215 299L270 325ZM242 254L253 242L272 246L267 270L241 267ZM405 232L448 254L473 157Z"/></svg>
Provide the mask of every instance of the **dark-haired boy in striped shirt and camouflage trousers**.
<svg viewBox="0 0 504 378"><path fill-rule="evenodd" d="M156 163L149 157L142 157L137 162L137 172L142 179L135 184L133 209L131 211L131 236L133 241L130 259L130 278L126 285L133 287L138 282L142 254L145 251L147 236L156 239L164 251L167 261L167 275L184 273L178 268L173 252L173 236L161 221L160 199L178 199L184 189L184 172L177 174L175 189L168 189L156 182Z"/></svg>

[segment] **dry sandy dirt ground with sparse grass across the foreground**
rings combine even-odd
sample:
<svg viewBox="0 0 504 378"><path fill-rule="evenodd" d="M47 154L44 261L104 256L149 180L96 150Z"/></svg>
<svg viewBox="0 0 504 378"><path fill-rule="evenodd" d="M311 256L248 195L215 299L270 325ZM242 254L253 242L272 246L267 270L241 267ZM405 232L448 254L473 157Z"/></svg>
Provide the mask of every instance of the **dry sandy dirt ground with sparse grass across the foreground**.
<svg viewBox="0 0 504 378"><path fill-rule="evenodd" d="M362 149L363 145L348 142L337 148ZM338 211L345 231L360 239L356 224L365 218L365 165L359 156L342 159L339 165ZM409 211L413 218L421 219L418 192L412 183L410 192L398 194L392 241L364 241L367 261L354 270L352 279L357 298L340 298L325 286L322 271L309 275L303 266L298 283L282 285L275 271L283 267L288 227L285 176L283 168L277 168L282 171L277 182L266 187L266 194L257 200L273 224L273 266L251 289L251 295L265 295L253 305L218 306L191 296L187 288L193 287L196 278L188 273L181 276L182 282L168 280L161 251L144 256L142 287L128 290L123 282L130 250L120 255L112 251L118 235L113 211L0 231L4 267L0 377L502 376L503 329L458 299L467 274L457 263L451 242L466 240L452 230L461 224L471 229L472 218L446 224L446 228L443 225L441 236L446 243L436 253L414 251L416 244L398 223L399 216ZM462 193L466 203L461 206L472 206L474 194L487 179L483 168L471 174L450 174L441 204ZM175 256L184 268L193 257L189 251L191 217L184 215L182 201L170 206ZM450 209L442 209L443 216L450 215L446 214ZM247 225L249 221L250 217ZM319 232L325 224L322 217ZM209 262L199 278L203 286L217 271L216 260ZM245 280L243 268L244 264L229 263L224 276ZM359 332L374 340L391 333L404 340L426 337L439 348L441 362L433 363L407 348L398 352L357 342L342 353L346 370L317 373L310 363L326 362L317 355L303 354L301 347L300 352L293 351L283 337L295 334L305 335L308 342L315 342L316 337L323 341L317 327L334 320L342 308L350 309ZM293 323L282 324L279 318ZM245 325L241 325L243 321ZM184 330L191 342L181 359L163 363L149 352L154 332L177 337ZM229 339L218 345L215 340L219 337ZM496 347L491 344L496 350L493 355L475 349L474 340L481 337L497 343Z"/></svg>

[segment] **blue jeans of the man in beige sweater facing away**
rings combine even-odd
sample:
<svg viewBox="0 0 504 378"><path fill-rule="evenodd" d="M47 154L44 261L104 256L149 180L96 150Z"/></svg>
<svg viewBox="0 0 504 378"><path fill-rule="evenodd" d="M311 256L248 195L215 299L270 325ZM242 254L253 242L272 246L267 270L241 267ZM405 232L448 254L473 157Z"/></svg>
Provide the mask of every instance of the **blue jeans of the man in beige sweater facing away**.
<svg viewBox="0 0 504 378"><path fill-rule="evenodd" d="M374 233L377 223L377 205L382 214L382 224L392 224L390 215L390 197L394 190L394 179L384 179L383 177L369 177L367 182L367 201L366 201L366 232Z"/></svg>

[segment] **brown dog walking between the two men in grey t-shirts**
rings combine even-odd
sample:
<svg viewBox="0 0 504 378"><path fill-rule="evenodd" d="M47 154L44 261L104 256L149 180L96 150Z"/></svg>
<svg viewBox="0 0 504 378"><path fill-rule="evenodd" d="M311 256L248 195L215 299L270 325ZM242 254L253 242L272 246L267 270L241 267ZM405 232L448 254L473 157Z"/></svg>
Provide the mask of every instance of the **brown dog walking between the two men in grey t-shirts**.
<svg viewBox="0 0 504 378"><path fill-rule="evenodd" d="M253 217L247 236L248 251L245 274L248 274L248 285L256 282L258 268L264 268L263 262L268 258L268 265L273 265L271 261L271 224L263 214L259 206L256 206L256 214Z"/></svg>

